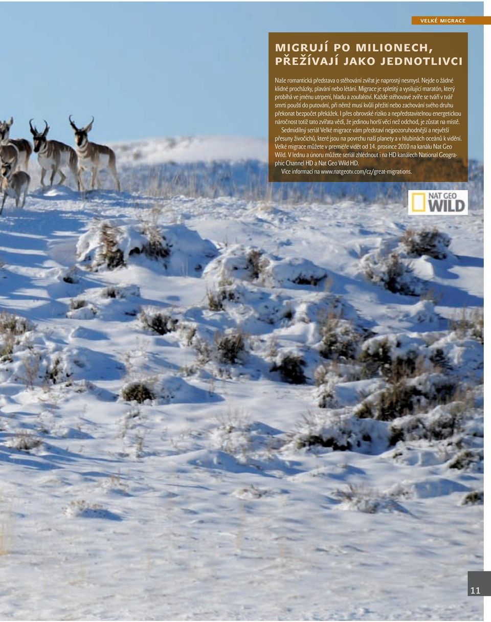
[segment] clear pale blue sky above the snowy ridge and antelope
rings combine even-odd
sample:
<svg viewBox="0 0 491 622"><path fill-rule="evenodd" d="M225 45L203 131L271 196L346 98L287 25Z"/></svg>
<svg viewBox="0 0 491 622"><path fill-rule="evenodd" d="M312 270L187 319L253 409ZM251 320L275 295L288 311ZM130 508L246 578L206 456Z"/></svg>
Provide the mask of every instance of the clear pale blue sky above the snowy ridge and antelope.
<svg viewBox="0 0 491 622"><path fill-rule="evenodd" d="M95 141L266 137L269 31L428 32L411 26L417 14L482 15L483 4L2 2L0 118L14 116L12 136L45 118L70 143L70 113L80 125L95 116ZM469 156L482 159L483 27L468 30Z"/></svg>

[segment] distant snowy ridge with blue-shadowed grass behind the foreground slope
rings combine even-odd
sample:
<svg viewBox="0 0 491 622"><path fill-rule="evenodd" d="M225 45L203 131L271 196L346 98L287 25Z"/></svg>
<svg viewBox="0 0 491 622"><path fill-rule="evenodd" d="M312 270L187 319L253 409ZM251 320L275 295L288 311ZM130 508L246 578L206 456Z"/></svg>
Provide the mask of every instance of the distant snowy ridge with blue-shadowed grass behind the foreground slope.
<svg viewBox="0 0 491 622"><path fill-rule="evenodd" d="M240 136L185 136L113 145L126 189L170 198L235 197L304 203L350 198L360 203L405 202L408 188L468 189L472 205L483 201L483 169L469 162L467 183L292 182L268 183L268 143Z"/></svg>

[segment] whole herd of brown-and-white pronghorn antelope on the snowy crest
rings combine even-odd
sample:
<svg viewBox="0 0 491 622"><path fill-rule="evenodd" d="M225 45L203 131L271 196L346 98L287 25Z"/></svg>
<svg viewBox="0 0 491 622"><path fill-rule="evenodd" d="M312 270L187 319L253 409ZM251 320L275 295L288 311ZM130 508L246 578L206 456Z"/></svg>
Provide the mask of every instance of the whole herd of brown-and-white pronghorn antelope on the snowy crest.
<svg viewBox="0 0 491 622"><path fill-rule="evenodd" d="M58 183L63 183L67 179L67 175L62 169L70 169L77 180L77 189L85 190L83 185L82 174L85 170L91 171L92 183L91 189L95 188L96 182L100 187L98 174L101 169L108 169L115 180L118 191L121 190L118 172L116 171L115 152L105 145L98 145L96 142L90 142L88 132L92 129L94 118L85 128L77 128L72 121L72 115L68 117L73 132L75 133L76 149L65 145L64 142L49 141L47 134L49 126L44 121L44 130L37 131L32 125L33 119L30 119L30 133L34 142L34 153L37 154L37 161L41 167L41 185L46 187L44 176L47 171L51 171L50 185L53 185L55 175L58 173L60 179ZM3 193L2 207L0 215L3 211L5 200L12 197L16 200L16 207L19 207L22 197L22 205L26 203L27 190L29 190L30 176L27 173L29 168L29 158L32 154L32 146L25 138L13 139L10 137L10 129L14 119L10 121L0 121L0 165L1 165L1 190Z"/></svg>

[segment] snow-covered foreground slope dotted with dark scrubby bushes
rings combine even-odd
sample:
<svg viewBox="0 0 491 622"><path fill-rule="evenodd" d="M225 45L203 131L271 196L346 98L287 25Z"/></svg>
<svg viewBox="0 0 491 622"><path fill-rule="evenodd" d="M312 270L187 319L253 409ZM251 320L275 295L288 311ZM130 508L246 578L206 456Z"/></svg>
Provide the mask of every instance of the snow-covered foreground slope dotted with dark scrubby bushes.
<svg viewBox="0 0 491 622"><path fill-rule="evenodd" d="M156 197L203 142L7 200L2 618L482 618L482 205Z"/></svg>

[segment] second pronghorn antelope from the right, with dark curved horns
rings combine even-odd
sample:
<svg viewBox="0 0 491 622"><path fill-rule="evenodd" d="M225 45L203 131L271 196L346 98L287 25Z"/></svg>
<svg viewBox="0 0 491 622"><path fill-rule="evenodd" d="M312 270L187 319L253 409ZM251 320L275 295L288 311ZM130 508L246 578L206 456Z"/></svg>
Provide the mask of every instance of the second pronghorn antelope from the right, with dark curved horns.
<svg viewBox="0 0 491 622"><path fill-rule="evenodd" d="M78 158L75 149L65 145L64 142L48 141L46 135L49 132L49 126L44 121L44 131L38 132L37 128L32 126L32 119L29 121L30 133L34 137L34 153L37 154L37 161L41 167L41 185L45 187L44 175L47 170L51 170L50 185L53 185L55 175L57 172L60 174L60 183L63 183L67 176L63 174L62 167L67 166L71 171L73 177L77 180L77 187L80 190L80 183L78 182Z"/></svg>

